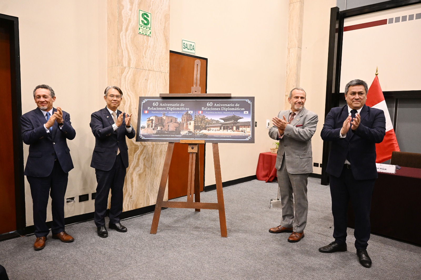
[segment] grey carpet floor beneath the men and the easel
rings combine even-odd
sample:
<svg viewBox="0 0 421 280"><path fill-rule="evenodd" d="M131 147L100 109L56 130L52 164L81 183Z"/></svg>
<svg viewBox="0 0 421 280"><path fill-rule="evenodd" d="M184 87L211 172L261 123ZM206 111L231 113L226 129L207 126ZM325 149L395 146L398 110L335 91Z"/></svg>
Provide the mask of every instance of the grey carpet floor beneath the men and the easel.
<svg viewBox="0 0 421 280"><path fill-rule="evenodd" d="M0 242L0 264L11 280L421 279L421 247L410 243L371 235L371 268L358 262L351 228L348 251L317 251L333 241L329 187L320 179L309 178L305 238L289 243L289 233L269 233L280 224L281 211L269 209L276 194L276 182L224 188L228 238L220 235L216 210L165 209L156 235L149 234L153 214L122 221L128 232L109 230L108 238L96 235L93 221L83 222L66 227L73 243L50 234L41 251L32 248L34 235ZM201 200L216 202L216 191Z"/></svg>

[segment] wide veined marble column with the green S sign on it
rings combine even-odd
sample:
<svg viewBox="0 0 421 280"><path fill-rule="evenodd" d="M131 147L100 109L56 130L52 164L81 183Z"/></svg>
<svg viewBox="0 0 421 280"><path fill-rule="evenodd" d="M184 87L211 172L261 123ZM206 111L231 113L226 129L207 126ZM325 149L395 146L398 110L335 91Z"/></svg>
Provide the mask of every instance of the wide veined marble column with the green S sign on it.
<svg viewBox="0 0 421 280"><path fill-rule="evenodd" d="M139 10L152 13L151 37L138 34ZM135 128L139 97L168 93L169 11L169 0L107 0L107 82L123 91L119 109ZM167 150L167 143L126 141L123 211L155 204Z"/></svg>

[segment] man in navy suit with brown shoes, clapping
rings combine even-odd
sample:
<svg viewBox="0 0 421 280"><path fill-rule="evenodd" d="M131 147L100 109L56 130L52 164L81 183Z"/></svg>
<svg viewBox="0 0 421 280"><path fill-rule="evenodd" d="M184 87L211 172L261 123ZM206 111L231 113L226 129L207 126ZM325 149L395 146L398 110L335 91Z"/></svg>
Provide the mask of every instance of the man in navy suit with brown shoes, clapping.
<svg viewBox="0 0 421 280"><path fill-rule="evenodd" d="M35 236L35 250L45 247L50 232L47 219L48 195L51 196L54 239L72 242L74 238L64 231L64 194L69 171L73 169L72 157L66 140L76 136L70 115L56 101L54 90L48 85L38 85L33 92L38 108L21 116L22 139L29 145L29 155L24 174L31 188Z"/></svg>

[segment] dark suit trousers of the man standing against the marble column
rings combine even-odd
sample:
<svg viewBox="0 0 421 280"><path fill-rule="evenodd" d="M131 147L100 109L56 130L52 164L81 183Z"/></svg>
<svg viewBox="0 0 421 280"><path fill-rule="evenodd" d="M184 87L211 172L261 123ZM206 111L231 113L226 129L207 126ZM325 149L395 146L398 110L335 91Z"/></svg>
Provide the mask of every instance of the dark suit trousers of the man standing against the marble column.
<svg viewBox="0 0 421 280"><path fill-rule="evenodd" d="M111 189L111 207L109 210L109 222L120 222L120 214L123 212L123 185L126 176L126 168L120 154L117 155L111 170L104 171L95 169L96 187L94 221L97 227L105 225L107 215L108 194Z"/></svg>

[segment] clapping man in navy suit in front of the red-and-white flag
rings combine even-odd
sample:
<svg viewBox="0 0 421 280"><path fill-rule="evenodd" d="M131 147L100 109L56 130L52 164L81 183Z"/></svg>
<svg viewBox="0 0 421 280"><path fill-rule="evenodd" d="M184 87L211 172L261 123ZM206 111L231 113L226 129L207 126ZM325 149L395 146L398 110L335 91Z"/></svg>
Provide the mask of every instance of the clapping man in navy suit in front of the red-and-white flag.
<svg viewBox="0 0 421 280"><path fill-rule="evenodd" d="M332 108L322 128L322 139L331 141L326 172L330 174L335 241L319 251L346 251L348 201L351 200L357 256L360 264L371 267L367 242L370 239L371 195L377 179L376 143L381 143L386 134L386 119L383 110L365 105L367 92L367 83L362 80L346 84L347 105Z"/></svg>

